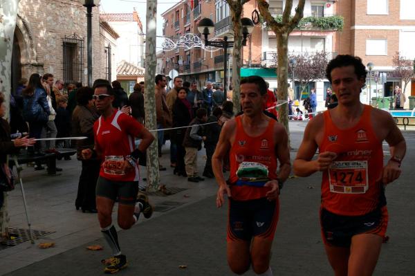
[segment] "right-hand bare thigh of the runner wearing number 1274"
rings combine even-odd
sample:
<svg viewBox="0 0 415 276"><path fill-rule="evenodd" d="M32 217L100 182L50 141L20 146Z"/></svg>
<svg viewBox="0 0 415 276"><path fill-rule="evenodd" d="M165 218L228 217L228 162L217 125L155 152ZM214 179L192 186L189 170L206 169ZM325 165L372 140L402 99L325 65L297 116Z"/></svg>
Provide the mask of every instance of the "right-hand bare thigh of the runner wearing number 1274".
<svg viewBox="0 0 415 276"><path fill-rule="evenodd" d="M377 234L356 234L351 238L349 276L372 275L382 247Z"/></svg>

